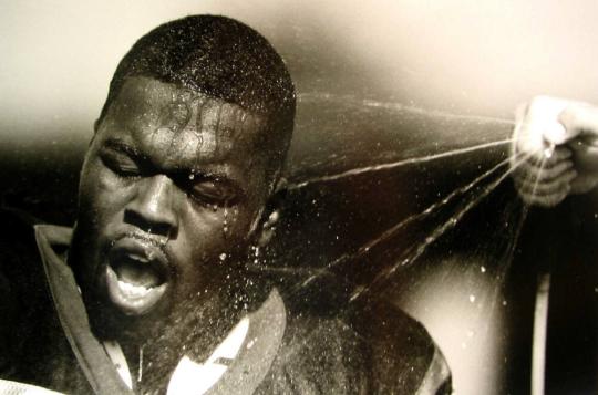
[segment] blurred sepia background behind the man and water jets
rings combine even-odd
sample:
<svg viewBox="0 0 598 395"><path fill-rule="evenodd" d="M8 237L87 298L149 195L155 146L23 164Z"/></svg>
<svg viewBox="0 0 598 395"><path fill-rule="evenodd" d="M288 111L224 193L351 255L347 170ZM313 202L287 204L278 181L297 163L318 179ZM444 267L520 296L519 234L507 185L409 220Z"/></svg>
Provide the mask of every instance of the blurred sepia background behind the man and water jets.
<svg viewBox="0 0 598 395"><path fill-rule="evenodd" d="M299 94L290 179L507 138L515 107L536 94L598 102L591 0L2 0L4 204L72 220L78 168L118 60L150 29L193 13L248 23L287 61ZM467 184L506 148L291 195L301 216L280 248L324 264ZM386 291L440 344L458 394L504 393L513 301L502 290L516 222L507 180Z"/></svg>

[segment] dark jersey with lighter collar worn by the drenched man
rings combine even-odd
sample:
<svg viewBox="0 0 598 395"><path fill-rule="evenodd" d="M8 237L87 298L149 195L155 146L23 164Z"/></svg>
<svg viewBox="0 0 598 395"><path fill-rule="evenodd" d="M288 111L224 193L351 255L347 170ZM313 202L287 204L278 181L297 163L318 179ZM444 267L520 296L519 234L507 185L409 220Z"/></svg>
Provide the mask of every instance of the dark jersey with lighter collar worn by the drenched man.
<svg viewBox="0 0 598 395"><path fill-rule="evenodd" d="M0 377L69 394L133 393L89 328L64 254L69 228L1 211ZM321 316L272 289L237 356L207 393L445 394L446 363L425 329L384 303ZM1 383L0 383L1 385Z"/></svg>

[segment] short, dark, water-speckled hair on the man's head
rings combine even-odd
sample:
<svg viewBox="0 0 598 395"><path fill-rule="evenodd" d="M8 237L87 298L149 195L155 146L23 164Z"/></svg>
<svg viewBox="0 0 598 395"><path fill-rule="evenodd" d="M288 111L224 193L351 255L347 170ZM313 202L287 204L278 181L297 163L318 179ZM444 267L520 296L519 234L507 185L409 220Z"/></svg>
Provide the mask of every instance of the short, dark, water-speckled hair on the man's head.
<svg viewBox="0 0 598 395"><path fill-rule="evenodd" d="M261 149L270 171L279 173L295 124L295 86L280 55L254 29L226 17L192 15L152 30L118 63L96 127L135 77L202 92L265 116ZM169 122L184 122L184 106L175 110Z"/></svg>

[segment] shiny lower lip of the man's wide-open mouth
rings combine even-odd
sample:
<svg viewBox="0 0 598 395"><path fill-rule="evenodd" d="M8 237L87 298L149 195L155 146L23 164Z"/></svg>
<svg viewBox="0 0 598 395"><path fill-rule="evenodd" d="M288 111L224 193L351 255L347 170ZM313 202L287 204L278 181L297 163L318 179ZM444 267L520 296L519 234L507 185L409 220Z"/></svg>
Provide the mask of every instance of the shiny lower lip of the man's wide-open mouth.
<svg viewBox="0 0 598 395"><path fill-rule="evenodd" d="M118 277L106 266L106 283L109 298L127 315L143 315L152 310L164 297L167 283L146 289L118 281Z"/></svg>

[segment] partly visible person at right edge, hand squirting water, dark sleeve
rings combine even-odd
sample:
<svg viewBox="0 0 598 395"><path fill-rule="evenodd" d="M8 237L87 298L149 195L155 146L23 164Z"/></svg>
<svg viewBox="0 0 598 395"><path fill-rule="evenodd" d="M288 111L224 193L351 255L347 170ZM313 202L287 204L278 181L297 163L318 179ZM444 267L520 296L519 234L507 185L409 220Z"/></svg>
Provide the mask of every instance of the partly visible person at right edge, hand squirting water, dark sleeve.
<svg viewBox="0 0 598 395"><path fill-rule="evenodd" d="M539 278L549 297L547 321L540 315L535 323L536 333L547 329L547 337L534 340L537 350L546 343L546 357L535 366L537 372L545 367L545 377L536 377L535 387L545 386L547 394L596 394L598 108L535 97L522 108L514 137L513 164L520 163L515 185L535 209L512 273L515 354L508 362L509 386L515 393L529 388L533 309L536 303L536 312L542 311L543 303L542 297L534 301L530 284Z"/></svg>

